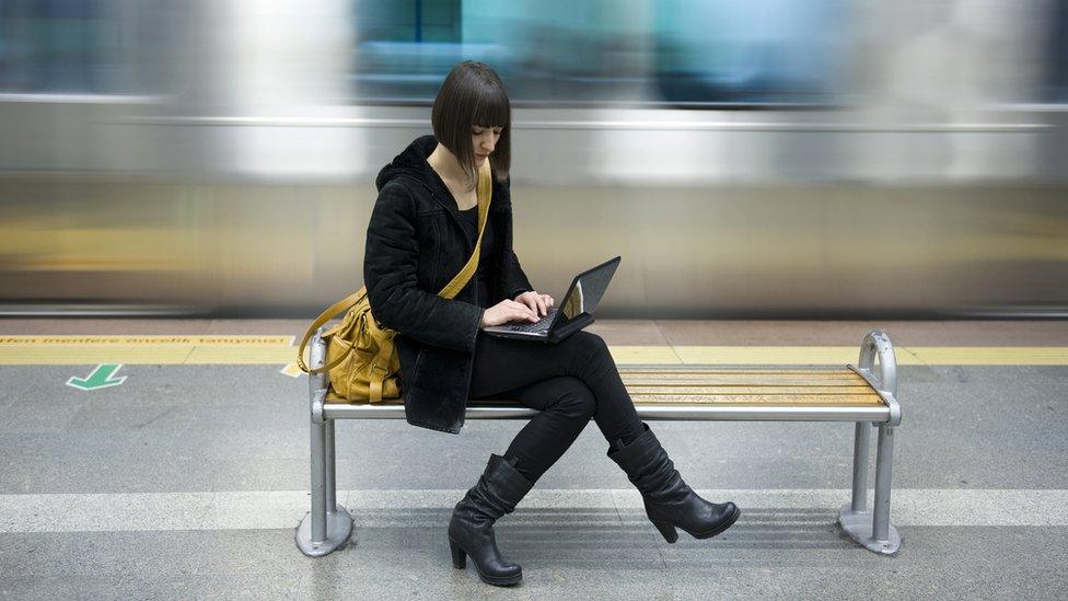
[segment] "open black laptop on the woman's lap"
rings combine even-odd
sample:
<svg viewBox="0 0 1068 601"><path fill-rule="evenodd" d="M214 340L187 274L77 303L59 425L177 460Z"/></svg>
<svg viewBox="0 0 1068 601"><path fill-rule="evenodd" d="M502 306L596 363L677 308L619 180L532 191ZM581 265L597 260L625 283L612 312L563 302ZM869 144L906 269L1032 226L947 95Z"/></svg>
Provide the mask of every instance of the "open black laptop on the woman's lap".
<svg viewBox="0 0 1068 601"><path fill-rule="evenodd" d="M536 322L516 322L484 327L483 332L501 338L558 343L593 323L593 312L608 288L622 257L608 259L582 271L571 280L571 287L559 307L549 309Z"/></svg>

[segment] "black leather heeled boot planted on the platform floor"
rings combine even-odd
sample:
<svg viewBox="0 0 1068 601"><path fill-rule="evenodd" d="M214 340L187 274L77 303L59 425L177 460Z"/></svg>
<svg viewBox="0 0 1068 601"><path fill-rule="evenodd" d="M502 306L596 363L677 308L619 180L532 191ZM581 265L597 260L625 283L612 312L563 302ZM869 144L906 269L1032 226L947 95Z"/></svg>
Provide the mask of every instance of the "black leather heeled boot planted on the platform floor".
<svg viewBox="0 0 1068 601"><path fill-rule="evenodd" d="M514 461L514 460L513 460ZM449 521L449 548L452 566L467 567L467 556L489 585L514 585L523 579L523 568L506 559L497 548L494 522L511 513L515 504L534 486L512 463L501 455L490 455L486 472L464 498L460 499Z"/></svg>

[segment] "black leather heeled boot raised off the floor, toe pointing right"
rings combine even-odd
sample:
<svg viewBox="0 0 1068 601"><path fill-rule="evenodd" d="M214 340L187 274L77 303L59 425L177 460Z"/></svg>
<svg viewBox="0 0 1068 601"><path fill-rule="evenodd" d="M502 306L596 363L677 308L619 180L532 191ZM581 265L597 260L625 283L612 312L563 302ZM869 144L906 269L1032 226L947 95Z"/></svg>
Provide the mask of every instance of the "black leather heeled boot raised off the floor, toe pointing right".
<svg viewBox="0 0 1068 601"><path fill-rule="evenodd" d="M678 527L695 539L709 539L734 523L742 512L733 502L715 504L697 496L683 482L668 452L660 446L647 424L645 432L624 446L616 441L608 449L608 458L619 464L627 477L641 493L646 515L664 540L678 540Z"/></svg>

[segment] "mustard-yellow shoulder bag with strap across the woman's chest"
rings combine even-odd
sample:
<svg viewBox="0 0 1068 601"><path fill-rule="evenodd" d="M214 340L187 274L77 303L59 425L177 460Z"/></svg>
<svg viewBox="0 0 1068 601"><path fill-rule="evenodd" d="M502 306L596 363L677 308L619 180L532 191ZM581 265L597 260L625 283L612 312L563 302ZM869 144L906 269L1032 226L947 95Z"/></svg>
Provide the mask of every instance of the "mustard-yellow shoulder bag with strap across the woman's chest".
<svg viewBox="0 0 1068 601"><path fill-rule="evenodd" d="M475 252L467 259L464 268L452 278L438 296L451 299L458 293L471 280L478 268L478 256L481 251L483 231L489 217L489 204L492 200L492 177L489 161L483 163L478 172L478 239ZM326 340L326 365L317 369L309 369L304 362L304 348L307 342L323 324L346 311L341 323L323 332ZM346 299L332 304L312 323L304 333L300 350L297 351L297 363L306 373L328 371L330 388L334 392L350 402L370 401L378 403L383 398L396 398L400 395L397 375L400 371L400 360L393 346L393 330L380 327L378 321L371 316L371 303L367 298L367 286L361 287Z"/></svg>

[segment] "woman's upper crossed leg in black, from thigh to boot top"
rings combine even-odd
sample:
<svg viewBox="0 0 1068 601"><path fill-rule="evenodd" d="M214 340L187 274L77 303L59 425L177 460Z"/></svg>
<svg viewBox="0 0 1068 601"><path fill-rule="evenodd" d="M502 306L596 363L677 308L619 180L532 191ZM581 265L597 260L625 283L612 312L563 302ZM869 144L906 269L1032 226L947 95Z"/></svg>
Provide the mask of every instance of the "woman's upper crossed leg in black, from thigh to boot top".
<svg viewBox="0 0 1068 601"><path fill-rule="evenodd" d="M619 378L608 346L600 336L589 332L577 332L556 344L498 338L479 333L475 345L471 395L500 395L561 375L581 380L593 393L596 400L593 419L606 440L629 442L642 434L641 420Z"/></svg>

